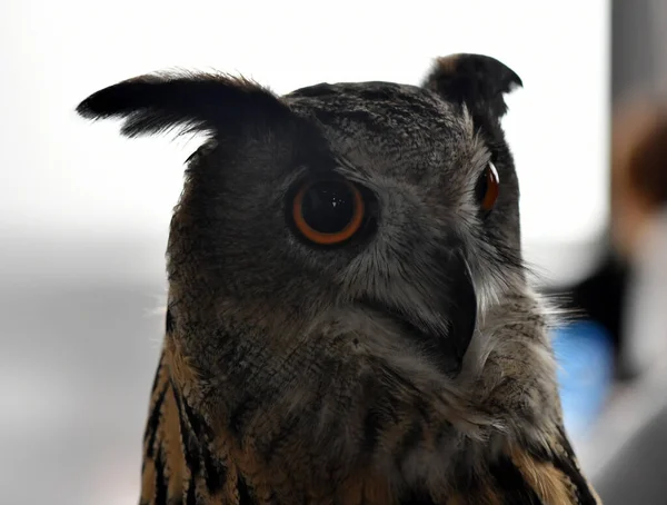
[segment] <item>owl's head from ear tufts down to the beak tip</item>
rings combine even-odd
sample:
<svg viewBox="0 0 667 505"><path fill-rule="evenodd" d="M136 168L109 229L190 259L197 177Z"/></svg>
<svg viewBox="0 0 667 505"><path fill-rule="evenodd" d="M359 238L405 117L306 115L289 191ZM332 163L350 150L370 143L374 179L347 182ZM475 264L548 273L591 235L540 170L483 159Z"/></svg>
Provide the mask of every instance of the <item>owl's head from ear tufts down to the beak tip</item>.
<svg viewBox="0 0 667 505"><path fill-rule="evenodd" d="M522 283L499 123L517 83L496 60L458 56L421 87L322 83L275 97L220 76L150 77L80 111L123 116L127 135L211 133L172 220L175 298L210 293L209 314L252 314L258 333L278 325L286 339L327 319L352 330L372 320L457 374L486 307Z"/></svg>

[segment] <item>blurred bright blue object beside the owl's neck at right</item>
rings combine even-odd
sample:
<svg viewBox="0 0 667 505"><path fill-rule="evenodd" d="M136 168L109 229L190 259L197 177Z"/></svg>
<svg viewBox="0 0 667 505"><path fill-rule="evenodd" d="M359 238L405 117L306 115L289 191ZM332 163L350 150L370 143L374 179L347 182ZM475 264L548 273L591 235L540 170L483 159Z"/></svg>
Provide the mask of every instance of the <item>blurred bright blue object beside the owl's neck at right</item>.
<svg viewBox="0 0 667 505"><path fill-rule="evenodd" d="M579 320L557 328L552 345L565 426L579 438L597 419L611 387L611 341L600 325Z"/></svg>

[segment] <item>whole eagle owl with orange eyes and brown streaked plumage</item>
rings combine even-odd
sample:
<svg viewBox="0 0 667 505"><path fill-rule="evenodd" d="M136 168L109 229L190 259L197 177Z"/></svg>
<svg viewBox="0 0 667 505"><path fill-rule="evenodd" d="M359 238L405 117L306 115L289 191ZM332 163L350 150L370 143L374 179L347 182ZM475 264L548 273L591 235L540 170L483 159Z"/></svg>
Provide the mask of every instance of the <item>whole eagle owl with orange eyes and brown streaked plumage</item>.
<svg viewBox="0 0 667 505"><path fill-rule="evenodd" d="M599 503L564 430L481 55L276 96L158 73L78 107L203 132L168 242L140 504Z"/></svg>

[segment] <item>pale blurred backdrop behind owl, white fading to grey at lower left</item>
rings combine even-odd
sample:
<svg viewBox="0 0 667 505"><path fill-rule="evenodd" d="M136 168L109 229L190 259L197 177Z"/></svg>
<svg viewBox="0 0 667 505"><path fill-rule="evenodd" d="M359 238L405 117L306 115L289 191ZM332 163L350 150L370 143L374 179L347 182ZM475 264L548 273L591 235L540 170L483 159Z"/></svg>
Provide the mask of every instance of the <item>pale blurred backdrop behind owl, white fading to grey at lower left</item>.
<svg viewBox="0 0 667 505"><path fill-rule="evenodd" d="M282 93L494 56L525 85L505 127L527 257L564 283L608 219L608 31L605 0L2 2L3 503L137 503L167 228L197 142L122 139L77 118L80 100L173 67Z"/></svg>

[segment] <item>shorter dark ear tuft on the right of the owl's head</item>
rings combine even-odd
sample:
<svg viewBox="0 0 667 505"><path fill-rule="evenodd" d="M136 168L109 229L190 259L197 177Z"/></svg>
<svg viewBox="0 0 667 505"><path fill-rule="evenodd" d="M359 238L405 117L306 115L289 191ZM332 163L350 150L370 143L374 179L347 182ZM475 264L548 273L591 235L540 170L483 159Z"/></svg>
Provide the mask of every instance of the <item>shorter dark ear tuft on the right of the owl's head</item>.
<svg viewBox="0 0 667 505"><path fill-rule="evenodd" d="M507 112L505 93L524 83L495 58L458 53L438 58L421 86L448 101L466 103L475 112L501 118Z"/></svg>

